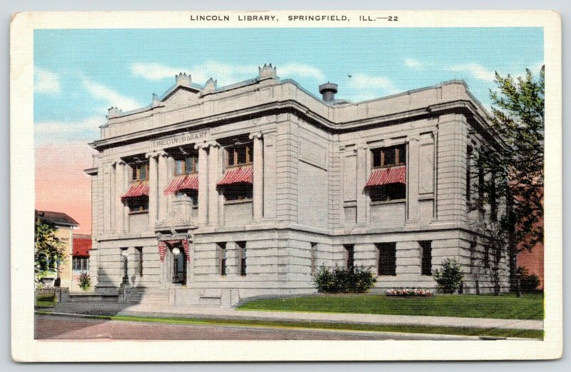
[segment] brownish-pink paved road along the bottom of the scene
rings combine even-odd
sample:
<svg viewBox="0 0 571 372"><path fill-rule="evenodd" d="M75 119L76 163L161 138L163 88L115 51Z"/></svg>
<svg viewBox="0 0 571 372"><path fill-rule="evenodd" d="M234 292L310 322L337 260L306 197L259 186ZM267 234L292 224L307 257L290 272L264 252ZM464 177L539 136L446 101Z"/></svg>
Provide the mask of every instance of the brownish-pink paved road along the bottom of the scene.
<svg viewBox="0 0 571 372"><path fill-rule="evenodd" d="M244 326L106 321L36 315L36 339L81 340L419 340L428 335L380 332L277 329ZM466 339L462 337L447 338Z"/></svg>

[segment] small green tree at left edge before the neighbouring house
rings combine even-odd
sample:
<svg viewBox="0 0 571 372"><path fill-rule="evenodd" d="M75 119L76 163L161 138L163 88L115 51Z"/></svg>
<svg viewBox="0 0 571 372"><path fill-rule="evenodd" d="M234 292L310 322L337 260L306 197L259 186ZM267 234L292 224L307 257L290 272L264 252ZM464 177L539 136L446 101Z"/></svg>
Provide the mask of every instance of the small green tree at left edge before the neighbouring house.
<svg viewBox="0 0 571 372"><path fill-rule="evenodd" d="M45 271L54 271L59 261L66 258L64 245L56 236L56 226L36 218L34 228L35 266L36 278Z"/></svg>

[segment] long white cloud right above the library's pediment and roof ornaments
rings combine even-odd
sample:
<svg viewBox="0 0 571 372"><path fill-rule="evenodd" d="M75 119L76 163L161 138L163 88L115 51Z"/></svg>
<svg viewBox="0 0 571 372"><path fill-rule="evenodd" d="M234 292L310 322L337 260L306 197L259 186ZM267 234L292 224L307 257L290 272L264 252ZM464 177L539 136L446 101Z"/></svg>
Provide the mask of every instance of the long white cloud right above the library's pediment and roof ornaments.
<svg viewBox="0 0 571 372"><path fill-rule="evenodd" d="M278 66L276 70L278 76L281 77L299 76L316 80L325 79L322 71L308 64L290 63ZM190 69L157 63L143 64L138 62L131 65L131 73L134 76L141 76L151 81L173 79L175 75L181 72L191 74L191 80L196 84L204 84L206 80L213 78L218 81L219 86L224 86L258 76L258 66L223 64L218 61L208 61Z"/></svg>

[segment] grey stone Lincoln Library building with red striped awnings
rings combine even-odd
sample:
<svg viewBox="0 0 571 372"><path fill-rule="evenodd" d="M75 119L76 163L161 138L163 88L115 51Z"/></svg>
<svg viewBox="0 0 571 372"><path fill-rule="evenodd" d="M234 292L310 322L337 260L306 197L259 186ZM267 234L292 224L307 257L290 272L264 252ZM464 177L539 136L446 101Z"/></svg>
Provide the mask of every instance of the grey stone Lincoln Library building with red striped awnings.
<svg viewBox="0 0 571 372"><path fill-rule="evenodd" d="M109 109L86 170L96 291L234 306L313 293L335 265L371 268L373 291L434 288L445 258L465 293L490 291L470 151L500 144L463 81L352 103L258 72L224 87L179 74L151 105Z"/></svg>

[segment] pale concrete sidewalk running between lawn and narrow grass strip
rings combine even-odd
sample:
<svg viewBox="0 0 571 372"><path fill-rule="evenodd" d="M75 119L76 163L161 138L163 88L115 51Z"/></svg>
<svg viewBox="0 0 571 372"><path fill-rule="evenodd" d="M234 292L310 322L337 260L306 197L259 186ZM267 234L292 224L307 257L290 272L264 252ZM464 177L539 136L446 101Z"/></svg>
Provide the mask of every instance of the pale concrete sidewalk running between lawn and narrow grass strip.
<svg viewBox="0 0 571 372"><path fill-rule="evenodd" d="M240 311L223 308L171 306L168 304L129 304L113 302L59 303L54 313L85 315L128 315L177 318L249 319L258 321L305 321L407 326L446 326L542 330L543 321L448 316L406 316L355 313L312 313L289 311Z"/></svg>

